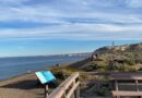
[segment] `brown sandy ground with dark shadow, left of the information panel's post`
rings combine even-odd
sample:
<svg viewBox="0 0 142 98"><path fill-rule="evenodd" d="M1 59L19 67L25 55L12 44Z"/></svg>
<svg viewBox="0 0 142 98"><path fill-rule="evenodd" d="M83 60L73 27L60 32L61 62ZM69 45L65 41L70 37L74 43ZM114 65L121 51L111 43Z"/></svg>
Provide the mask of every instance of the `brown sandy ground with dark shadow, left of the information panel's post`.
<svg viewBox="0 0 142 98"><path fill-rule="evenodd" d="M44 98L44 86L34 73L0 81L0 98Z"/></svg>

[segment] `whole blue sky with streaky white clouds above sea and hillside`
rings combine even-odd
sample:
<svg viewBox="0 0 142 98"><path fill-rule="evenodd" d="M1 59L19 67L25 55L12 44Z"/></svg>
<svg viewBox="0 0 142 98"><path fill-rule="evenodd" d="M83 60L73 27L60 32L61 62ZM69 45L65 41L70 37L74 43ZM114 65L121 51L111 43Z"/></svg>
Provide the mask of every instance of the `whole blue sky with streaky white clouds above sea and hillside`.
<svg viewBox="0 0 142 98"><path fill-rule="evenodd" d="M0 0L0 57L140 42L141 9L142 0Z"/></svg>

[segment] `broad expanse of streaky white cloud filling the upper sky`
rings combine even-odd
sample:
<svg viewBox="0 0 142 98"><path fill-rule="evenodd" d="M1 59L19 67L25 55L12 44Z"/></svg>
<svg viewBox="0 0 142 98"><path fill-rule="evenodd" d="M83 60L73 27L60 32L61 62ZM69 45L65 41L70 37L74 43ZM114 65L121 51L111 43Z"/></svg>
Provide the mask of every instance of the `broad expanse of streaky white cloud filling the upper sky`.
<svg viewBox="0 0 142 98"><path fill-rule="evenodd" d="M1 0L0 38L141 39L140 7L141 0Z"/></svg>

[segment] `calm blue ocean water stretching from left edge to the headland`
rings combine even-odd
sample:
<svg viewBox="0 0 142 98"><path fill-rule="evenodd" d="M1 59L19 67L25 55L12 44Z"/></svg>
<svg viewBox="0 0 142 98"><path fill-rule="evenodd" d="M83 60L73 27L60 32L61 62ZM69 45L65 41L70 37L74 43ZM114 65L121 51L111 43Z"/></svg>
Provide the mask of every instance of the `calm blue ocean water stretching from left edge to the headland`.
<svg viewBox="0 0 142 98"><path fill-rule="evenodd" d="M83 56L48 56L0 58L0 79L7 79L27 72L33 72L52 65L75 62L87 58Z"/></svg>

